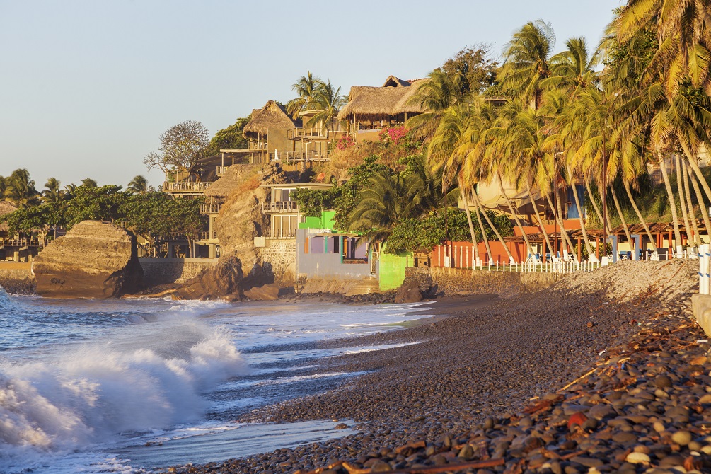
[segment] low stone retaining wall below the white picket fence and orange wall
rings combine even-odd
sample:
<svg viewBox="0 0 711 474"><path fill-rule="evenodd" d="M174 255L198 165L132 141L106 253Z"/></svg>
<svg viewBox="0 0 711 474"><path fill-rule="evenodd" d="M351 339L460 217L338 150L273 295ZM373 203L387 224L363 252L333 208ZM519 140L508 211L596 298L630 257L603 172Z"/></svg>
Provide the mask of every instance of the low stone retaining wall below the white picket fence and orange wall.
<svg viewBox="0 0 711 474"><path fill-rule="evenodd" d="M405 280L409 279L416 279L422 291L434 288L446 295L497 293L502 298L513 298L551 286L560 274L419 266L405 269Z"/></svg>

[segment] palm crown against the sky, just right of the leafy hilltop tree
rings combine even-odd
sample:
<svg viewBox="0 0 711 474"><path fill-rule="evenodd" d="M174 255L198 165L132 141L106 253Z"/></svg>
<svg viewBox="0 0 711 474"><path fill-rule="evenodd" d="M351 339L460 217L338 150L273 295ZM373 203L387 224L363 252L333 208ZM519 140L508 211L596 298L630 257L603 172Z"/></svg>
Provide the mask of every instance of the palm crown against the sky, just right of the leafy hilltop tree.
<svg viewBox="0 0 711 474"><path fill-rule="evenodd" d="M550 55L555 33L550 23L529 21L506 44L501 84L519 90L526 103L538 109L542 102L542 81L551 75Z"/></svg>

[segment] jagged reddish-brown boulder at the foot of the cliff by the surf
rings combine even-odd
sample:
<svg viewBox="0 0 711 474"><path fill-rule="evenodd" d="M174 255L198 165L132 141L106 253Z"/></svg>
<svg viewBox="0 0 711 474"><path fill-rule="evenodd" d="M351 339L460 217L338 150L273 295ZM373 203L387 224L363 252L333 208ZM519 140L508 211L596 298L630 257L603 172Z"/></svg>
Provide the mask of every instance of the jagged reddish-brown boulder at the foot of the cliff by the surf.
<svg viewBox="0 0 711 474"><path fill-rule="evenodd" d="M181 299L239 299L242 295L242 262L236 255L186 281L173 293Z"/></svg>

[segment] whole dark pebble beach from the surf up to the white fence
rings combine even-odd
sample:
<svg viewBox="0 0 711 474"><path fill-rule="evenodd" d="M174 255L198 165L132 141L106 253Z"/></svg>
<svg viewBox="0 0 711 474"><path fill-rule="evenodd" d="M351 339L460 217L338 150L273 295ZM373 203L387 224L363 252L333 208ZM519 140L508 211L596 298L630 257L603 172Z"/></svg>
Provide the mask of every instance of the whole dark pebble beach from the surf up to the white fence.
<svg viewBox="0 0 711 474"><path fill-rule="evenodd" d="M324 362L365 375L238 420L353 420L355 434L170 470L710 472L697 287L695 261L621 262L518 298L472 296L444 320L358 338L410 345Z"/></svg>

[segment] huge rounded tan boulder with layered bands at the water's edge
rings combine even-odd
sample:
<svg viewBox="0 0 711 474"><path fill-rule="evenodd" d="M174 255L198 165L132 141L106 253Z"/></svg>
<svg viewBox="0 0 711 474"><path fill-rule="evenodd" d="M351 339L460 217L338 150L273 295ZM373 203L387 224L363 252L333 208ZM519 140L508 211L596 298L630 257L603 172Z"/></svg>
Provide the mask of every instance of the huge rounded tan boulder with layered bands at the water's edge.
<svg viewBox="0 0 711 474"><path fill-rule="evenodd" d="M136 237L109 222L85 220L34 259L37 293L50 298L115 298L143 284Z"/></svg>

